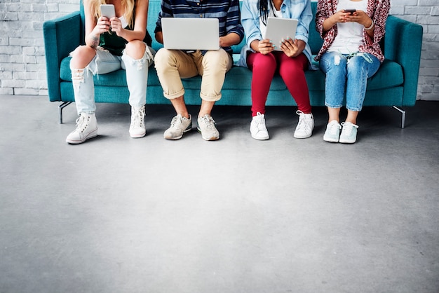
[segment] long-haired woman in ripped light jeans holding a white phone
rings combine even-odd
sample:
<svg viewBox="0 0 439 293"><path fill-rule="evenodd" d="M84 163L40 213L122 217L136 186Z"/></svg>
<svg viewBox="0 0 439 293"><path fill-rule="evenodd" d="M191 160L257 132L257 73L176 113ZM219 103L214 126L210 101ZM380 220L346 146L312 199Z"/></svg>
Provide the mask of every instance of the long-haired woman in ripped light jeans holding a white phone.
<svg viewBox="0 0 439 293"><path fill-rule="evenodd" d="M70 69L76 110L76 129L66 139L81 144L97 135L95 116L94 74L107 74L126 69L130 91L131 137L144 137L144 115L147 95L148 67L154 61L151 36L147 32L148 0L113 0L116 16L101 14L102 1L84 0L86 45L72 52ZM148 45L147 45L148 43Z"/></svg>

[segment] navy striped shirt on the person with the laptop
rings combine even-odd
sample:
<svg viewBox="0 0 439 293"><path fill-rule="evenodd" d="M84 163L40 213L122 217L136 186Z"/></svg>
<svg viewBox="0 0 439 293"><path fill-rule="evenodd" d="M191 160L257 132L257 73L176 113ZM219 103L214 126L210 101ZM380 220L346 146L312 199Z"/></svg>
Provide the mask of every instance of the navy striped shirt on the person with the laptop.
<svg viewBox="0 0 439 293"><path fill-rule="evenodd" d="M161 18L217 18L219 36L236 33L242 40L244 29L238 0L162 0L154 33L161 32ZM231 48L223 48L231 53Z"/></svg>

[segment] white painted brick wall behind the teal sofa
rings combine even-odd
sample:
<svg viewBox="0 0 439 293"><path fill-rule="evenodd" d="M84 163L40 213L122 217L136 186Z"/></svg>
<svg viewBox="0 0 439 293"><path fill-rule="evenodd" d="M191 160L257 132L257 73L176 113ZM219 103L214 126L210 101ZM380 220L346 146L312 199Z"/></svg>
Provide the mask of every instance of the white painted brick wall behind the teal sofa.
<svg viewBox="0 0 439 293"><path fill-rule="evenodd" d="M391 14L424 27L418 100L439 100L439 0L391 0ZM1 0L0 95L48 95L43 22L79 0Z"/></svg>

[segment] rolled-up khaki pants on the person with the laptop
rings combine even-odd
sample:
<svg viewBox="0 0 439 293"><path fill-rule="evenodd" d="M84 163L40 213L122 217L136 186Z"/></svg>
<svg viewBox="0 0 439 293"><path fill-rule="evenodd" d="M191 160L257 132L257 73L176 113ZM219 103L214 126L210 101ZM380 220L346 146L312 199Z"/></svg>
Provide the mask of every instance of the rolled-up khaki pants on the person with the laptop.
<svg viewBox="0 0 439 293"><path fill-rule="evenodd" d="M216 102L221 99L222 85L233 60L223 49L208 50L203 55L200 50L184 53L161 48L156 53L154 64L166 98L181 97L184 95L182 79L201 75L201 99Z"/></svg>

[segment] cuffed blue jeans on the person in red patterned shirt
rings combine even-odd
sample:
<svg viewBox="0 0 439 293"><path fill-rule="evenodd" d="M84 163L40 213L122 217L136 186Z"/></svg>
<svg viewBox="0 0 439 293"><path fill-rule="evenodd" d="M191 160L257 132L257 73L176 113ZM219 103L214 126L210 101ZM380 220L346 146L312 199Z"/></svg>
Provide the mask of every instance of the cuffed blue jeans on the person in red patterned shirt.
<svg viewBox="0 0 439 293"><path fill-rule="evenodd" d="M346 108L361 111L367 79L377 73L381 64L378 58L369 53L344 55L327 52L320 57L319 64L320 69L326 74L326 107L341 108L346 88Z"/></svg>

